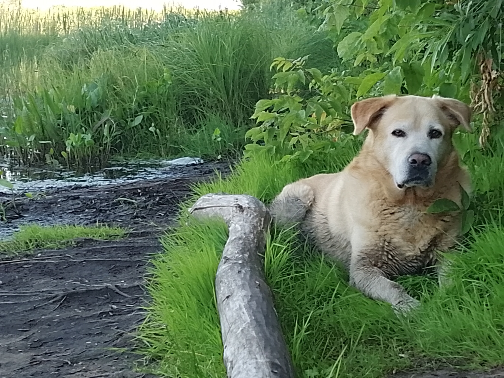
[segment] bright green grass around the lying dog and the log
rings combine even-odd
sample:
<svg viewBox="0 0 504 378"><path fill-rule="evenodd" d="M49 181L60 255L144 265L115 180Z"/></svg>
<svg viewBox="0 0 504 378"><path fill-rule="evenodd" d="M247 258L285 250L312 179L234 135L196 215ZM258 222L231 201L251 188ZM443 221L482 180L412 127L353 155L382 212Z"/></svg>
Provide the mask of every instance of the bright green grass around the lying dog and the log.
<svg viewBox="0 0 504 378"><path fill-rule="evenodd" d="M434 276L400 278L422 302L408 318L349 287L347 273L292 230L271 230L265 272L297 376L381 377L394 369L504 363L503 149L498 143L472 148L473 135L454 139L473 176L475 223L452 255L452 286L439 289ZM269 202L287 182L344 167L360 139L338 143L303 164L255 156L226 179L199 184L195 198L247 193ZM161 376L222 377L214 278L226 227L187 218L184 209L192 201L182 206L180 226L163 237L166 253L153 260L152 302L139 336L148 368Z"/></svg>

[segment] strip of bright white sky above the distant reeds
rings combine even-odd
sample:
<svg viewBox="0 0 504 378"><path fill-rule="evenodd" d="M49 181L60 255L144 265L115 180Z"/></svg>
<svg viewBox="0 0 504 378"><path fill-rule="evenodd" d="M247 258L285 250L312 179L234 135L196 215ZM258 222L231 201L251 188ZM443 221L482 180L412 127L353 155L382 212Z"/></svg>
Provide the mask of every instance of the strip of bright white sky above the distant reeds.
<svg viewBox="0 0 504 378"><path fill-rule="evenodd" d="M236 10L241 5L239 0L23 0L22 5L25 8L38 8L40 10L46 10L56 5L67 7L111 7L114 5L123 5L132 9L141 7L160 11L163 9L163 4L165 3L168 7L179 4L184 8L207 10L218 10L219 7Z"/></svg>

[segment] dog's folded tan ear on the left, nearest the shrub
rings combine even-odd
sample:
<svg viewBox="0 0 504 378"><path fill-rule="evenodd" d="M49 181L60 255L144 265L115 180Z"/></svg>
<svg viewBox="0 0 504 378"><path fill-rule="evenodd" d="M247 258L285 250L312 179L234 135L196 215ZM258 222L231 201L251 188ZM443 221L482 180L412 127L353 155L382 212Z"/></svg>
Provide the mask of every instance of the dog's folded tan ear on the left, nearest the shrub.
<svg viewBox="0 0 504 378"><path fill-rule="evenodd" d="M371 128L383 112L397 99L396 95L373 97L357 101L352 105L353 135L359 135L366 128Z"/></svg>

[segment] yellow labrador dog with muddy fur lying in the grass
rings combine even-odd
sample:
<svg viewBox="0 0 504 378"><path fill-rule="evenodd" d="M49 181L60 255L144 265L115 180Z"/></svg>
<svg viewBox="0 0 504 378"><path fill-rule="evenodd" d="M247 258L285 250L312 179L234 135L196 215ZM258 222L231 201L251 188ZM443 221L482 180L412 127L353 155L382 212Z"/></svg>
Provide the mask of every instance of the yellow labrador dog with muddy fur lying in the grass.
<svg viewBox="0 0 504 378"><path fill-rule="evenodd" d="M390 278L434 265L460 233L459 212L425 210L439 198L460 205L459 184L470 193L452 133L471 131L471 110L449 98L393 95L356 102L351 113L354 135L369 129L359 155L339 173L286 185L270 210L279 224L301 222L349 270L351 285L408 310L418 301Z"/></svg>

